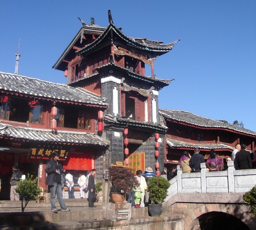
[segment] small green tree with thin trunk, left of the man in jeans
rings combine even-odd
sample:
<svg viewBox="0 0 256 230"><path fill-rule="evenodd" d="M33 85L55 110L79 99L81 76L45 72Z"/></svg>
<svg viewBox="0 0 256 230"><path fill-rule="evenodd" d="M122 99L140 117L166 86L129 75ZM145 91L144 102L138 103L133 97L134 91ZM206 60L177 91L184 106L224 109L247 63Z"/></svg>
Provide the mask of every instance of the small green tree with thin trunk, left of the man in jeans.
<svg viewBox="0 0 256 230"><path fill-rule="evenodd" d="M41 193L41 189L36 184L37 177L36 179L32 179L32 177L32 175L29 176L28 174L25 180L18 181L17 188L15 189L21 197L21 212L24 212L30 200L36 200L37 196Z"/></svg>

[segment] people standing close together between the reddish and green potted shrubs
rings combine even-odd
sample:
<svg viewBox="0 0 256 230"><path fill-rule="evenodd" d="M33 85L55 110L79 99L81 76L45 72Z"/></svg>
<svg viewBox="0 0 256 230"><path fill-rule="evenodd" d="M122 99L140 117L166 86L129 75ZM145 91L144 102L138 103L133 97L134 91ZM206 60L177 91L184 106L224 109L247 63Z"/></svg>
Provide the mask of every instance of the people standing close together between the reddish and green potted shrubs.
<svg viewBox="0 0 256 230"><path fill-rule="evenodd" d="M147 167L145 172L136 171L135 178L139 182L139 186L131 190L128 197L128 203L132 203L132 207L147 207L149 201L148 181L150 178L157 176L151 167Z"/></svg>

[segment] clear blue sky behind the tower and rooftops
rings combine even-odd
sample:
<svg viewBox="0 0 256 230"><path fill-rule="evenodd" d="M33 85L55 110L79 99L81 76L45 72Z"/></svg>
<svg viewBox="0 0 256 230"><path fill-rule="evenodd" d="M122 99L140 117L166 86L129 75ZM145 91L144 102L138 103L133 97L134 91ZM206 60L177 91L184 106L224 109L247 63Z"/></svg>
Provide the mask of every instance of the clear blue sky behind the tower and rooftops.
<svg viewBox="0 0 256 230"><path fill-rule="evenodd" d="M0 0L0 71L66 83L52 69L82 26L108 26L108 10L127 36L170 43L155 61L159 107L256 131L256 0ZM148 73L148 75L150 75Z"/></svg>

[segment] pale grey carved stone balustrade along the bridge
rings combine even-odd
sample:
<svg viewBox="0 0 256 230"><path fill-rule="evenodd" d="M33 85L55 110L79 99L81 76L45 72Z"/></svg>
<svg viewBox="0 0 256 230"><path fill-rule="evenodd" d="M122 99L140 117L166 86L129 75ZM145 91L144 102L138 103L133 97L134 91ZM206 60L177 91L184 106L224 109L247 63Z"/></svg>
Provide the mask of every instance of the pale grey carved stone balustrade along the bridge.
<svg viewBox="0 0 256 230"><path fill-rule="evenodd" d="M207 172L201 163L201 172L182 173L177 166L177 176L170 181L167 201L178 193L228 193L247 192L256 185L256 169L235 170L234 162L228 161L228 170Z"/></svg>

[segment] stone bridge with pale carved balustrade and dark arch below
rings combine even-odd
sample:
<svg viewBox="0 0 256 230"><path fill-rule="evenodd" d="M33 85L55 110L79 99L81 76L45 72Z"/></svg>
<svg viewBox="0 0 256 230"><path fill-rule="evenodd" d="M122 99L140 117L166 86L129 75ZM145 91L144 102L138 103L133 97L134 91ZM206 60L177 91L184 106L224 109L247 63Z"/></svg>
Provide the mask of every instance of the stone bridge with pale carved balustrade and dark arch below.
<svg viewBox="0 0 256 230"><path fill-rule="evenodd" d="M163 213L183 214L184 230L256 229L256 217L244 204L243 194L256 185L256 169L235 170L233 161L228 170L183 174L170 180Z"/></svg>

